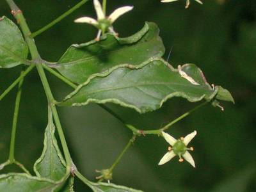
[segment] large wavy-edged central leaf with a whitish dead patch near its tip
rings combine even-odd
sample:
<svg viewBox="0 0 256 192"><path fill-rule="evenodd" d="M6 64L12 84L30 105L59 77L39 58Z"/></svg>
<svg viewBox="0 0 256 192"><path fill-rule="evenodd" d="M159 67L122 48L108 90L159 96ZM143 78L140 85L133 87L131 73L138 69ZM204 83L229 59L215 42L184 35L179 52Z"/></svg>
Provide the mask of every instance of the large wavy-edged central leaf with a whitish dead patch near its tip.
<svg viewBox="0 0 256 192"><path fill-rule="evenodd" d="M192 78L194 83L191 83ZM165 61L155 58L136 69L123 65L112 71L95 74L80 84L60 105L83 106L90 102L113 102L146 113L161 108L172 97L197 102L202 99L211 100L217 93L218 87L212 89L196 65L186 64L178 71Z"/></svg>

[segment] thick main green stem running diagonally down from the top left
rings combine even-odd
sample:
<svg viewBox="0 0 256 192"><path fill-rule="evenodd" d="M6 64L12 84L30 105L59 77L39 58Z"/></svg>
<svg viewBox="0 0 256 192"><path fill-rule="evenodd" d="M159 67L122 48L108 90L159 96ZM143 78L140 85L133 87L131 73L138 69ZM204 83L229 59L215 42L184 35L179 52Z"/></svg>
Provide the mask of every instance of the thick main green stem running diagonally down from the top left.
<svg viewBox="0 0 256 192"><path fill-rule="evenodd" d="M72 159L70 157L70 153L69 153L68 147L67 147L67 142L65 140L65 136L64 136L64 133L63 133L62 128L61 128L60 118L58 116L56 106L54 106L54 104L53 104L54 103L54 97L52 95L51 88L50 88L49 83L47 81L47 77L45 76L44 68L42 67L42 63L44 63L44 62L41 60L40 54L37 51L35 40L33 38L31 38L31 36L30 36L31 32L29 30L28 24L26 23L26 20L23 16L22 12L19 10L19 8L13 2L13 0L6 0L6 1L10 5L10 8L12 9L13 16L15 17L15 19L17 20L17 22L20 25L20 28L22 29L25 40L26 40L26 42L28 44L28 47L29 47L29 51L31 53L31 57L32 57L33 61L36 63L36 68L38 70L38 74L40 76L42 84L44 86L45 94L47 96L48 103L49 103L49 105L52 109L52 114L54 116L56 127L57 127L57 130L58 130L59 136L60 136L60 141L61 141L61 145L63 147L64 156L65 156L65 159L67 161L67 172L70 172Z"/></svg>

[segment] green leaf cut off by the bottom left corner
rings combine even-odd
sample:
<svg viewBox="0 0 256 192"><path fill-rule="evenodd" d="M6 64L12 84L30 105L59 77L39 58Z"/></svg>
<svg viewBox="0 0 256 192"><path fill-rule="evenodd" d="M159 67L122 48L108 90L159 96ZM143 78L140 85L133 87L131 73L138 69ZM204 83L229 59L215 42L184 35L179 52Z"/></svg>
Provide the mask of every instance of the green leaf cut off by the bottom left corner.
<svg viewBox="0 0 256 192"><path fill-rule="evenodd" d="M55 183L49 179L32 177L25 173L9 173L0 175L0 191L36 192L54 191L62 183Z"/></svg>

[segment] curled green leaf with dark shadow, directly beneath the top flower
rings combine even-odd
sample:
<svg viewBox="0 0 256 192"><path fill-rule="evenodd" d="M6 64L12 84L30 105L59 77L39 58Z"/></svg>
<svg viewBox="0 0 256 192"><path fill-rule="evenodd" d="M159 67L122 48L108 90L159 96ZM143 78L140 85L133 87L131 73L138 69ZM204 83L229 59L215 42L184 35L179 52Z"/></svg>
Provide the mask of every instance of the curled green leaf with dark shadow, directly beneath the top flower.
<svg viewBox="0 0 256 192"><path fill-rule="evenodd" d="M139 65L152 57L161 57L164 46L156 24L147 22L141 31L127 38L108 34L99 42L72 45L61 57L57 70L75 83L83 83L92 74L111 70L116 65Z"/></svg>

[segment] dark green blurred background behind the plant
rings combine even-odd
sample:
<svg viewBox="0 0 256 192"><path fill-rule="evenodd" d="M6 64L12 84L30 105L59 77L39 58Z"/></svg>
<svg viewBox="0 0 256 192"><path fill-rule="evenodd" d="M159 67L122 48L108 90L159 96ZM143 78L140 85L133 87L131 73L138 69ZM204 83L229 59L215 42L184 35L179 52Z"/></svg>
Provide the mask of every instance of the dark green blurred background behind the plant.
<svg viewBox="0 0 256 192"><path fill-rule="evenodd" d="M79 1L17 0L31 31L41 28ZM256 1L205 0L200 5L191 0L160 3L158 0L108 1L108 13L115 8L134 5L134 10L115 22L120 36L141 29L145 21L156 22L161 30L170 63L196 63L209 83L230 90L236 104L222 103L225 111L208 105L179 122L168 131L176 138L194 130L198 136L191 142L196 169L175 158L163 166L159 159L167 143L157 136L140 137L116 166L113 182L145 191L256 191ZM0 15L12 18L1 0ZM36 37L36 44L47 61L57 61L71 44L95 38L97 30L86 24L75 24L81 16L95 17L92 1L49 31ZM0 34L1 35L1 34ZM21 67L0 70L0 93L19 76ZM49 74L58 100L71 88ZM24 82L24 92L17 131L16 159L33 170L42 152L47 124L47 102L36 70ZM0 102L0 162L8 157L16 89ZM141 129L157 129L197 104L171 99L162 109L146 115L110 106L130 124ZM95 104L82 108L60 108L60 118L77 168L90 180L95 169L108 168L131 138L131 132L104 109ZM1 173L19 171L13 167ZM76 191L90 191L76 180Z"/></svg>

